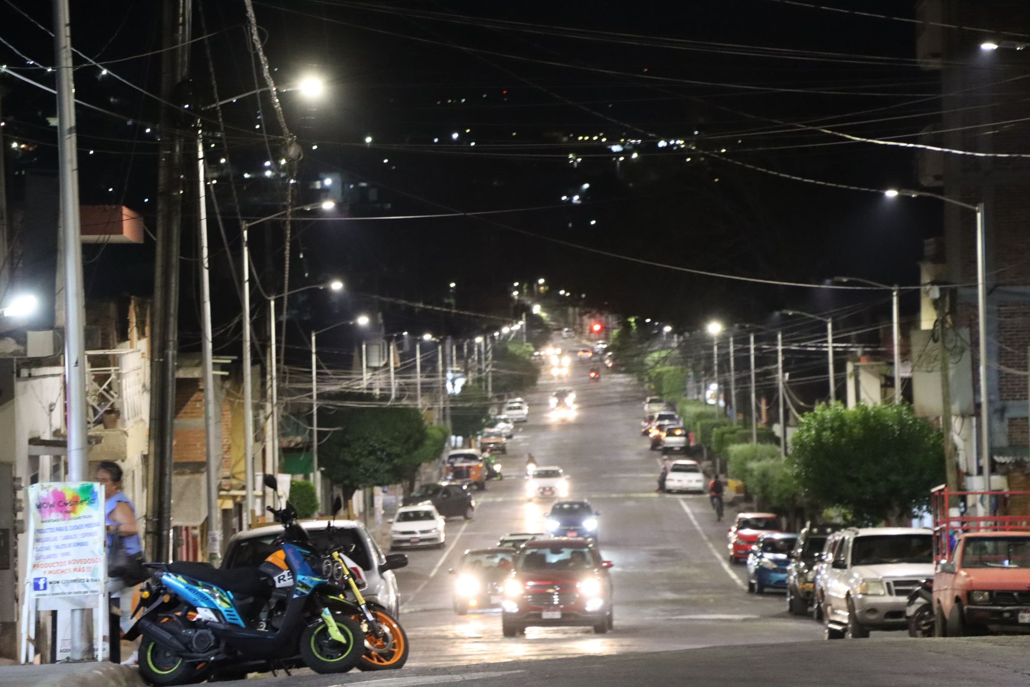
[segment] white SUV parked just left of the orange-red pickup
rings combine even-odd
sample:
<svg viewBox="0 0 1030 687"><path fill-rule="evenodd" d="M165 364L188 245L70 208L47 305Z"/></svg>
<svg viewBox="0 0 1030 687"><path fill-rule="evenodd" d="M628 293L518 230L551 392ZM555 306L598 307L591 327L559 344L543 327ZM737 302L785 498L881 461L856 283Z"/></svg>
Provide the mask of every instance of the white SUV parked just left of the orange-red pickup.
<svg viewBox="0 0 1030 687"><path fill-rule="evenodd" d="M933 576L933 531L849 527L826 573L826 639L860 639L873 629L905 629L908 594Z"/></svg>

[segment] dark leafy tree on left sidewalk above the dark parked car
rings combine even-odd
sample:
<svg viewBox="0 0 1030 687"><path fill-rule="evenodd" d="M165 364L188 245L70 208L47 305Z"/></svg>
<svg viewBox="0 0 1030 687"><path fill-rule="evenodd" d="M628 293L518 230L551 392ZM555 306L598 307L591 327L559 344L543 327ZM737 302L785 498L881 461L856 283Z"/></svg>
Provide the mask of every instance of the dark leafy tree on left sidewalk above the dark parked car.
<svg viewBox="0 0 1030 687"><path fill-rule="evenodd" d="M393 482L403 458L425 441L425 422L414 408L342 408L325 413L324 422L335 431L318 457L346 501L357 489Z"/></svg>

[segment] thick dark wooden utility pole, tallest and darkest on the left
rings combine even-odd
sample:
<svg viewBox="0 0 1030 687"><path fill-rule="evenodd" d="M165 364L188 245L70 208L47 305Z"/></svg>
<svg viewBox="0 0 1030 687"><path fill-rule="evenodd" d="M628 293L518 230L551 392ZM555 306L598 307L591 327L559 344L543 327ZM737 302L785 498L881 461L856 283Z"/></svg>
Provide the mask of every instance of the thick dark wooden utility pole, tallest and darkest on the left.
<svg viewBox="0 0 1030 687"><path fill-rule="evenodd" d="M56 0L63 4L64 0ZM161 98L176 105L188 75L192 0L162 4ZM60 21L60 18L56 18ZM59 28L58 33L66 31ZM172 455L175 423L175 367L178 355L179 252L182 238L182 186L185 142L183 116L161 109L158 147L157 251L153 269L153 328L150 336L150 439L147 448L147 552L151 560L172 559ZM76 208L77 216L77 208Z"/></svg>

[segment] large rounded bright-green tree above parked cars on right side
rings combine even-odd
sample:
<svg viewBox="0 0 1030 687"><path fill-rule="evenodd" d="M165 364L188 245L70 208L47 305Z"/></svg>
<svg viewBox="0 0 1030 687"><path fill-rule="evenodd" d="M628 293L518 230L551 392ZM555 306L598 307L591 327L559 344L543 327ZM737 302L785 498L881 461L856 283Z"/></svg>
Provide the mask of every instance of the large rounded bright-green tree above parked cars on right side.
<svg viewBox="0 0 1030 687"><path fill-rule="evenodd" d="M928 503L930 488L945 480L943 455L940 432L906 404L833 404L801 416L791 467L809 499L878 524Z"/></svg>

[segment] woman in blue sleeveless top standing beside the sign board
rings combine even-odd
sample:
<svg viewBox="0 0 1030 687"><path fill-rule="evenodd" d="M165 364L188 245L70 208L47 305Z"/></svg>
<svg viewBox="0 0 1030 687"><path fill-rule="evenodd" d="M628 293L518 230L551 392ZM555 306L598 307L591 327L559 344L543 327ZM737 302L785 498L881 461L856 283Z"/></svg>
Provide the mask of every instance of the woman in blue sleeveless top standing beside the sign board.
<svg viewBox="0 0 1030 687"><path fill-rule="evenodd" d="M122 468L111 460L104 460L97 466L97 481L104 485L104 513L107 524L107 558L111 559L117 543L125 551L125 557L137 556L143 553L139 541L139 527L136 524L136 509L129 496L122 491ZM122 597L125 595L132 602L132 589L126 586L124 580L113 578L108 582L107 592L111 597L118 597L118 605L111 600L111 608L118 608L119 613L111 613L110 626L110 660L122 662L122 621L131 622L131 617L121 609ZM130 609L131 610L131 609Z"/></svg>

